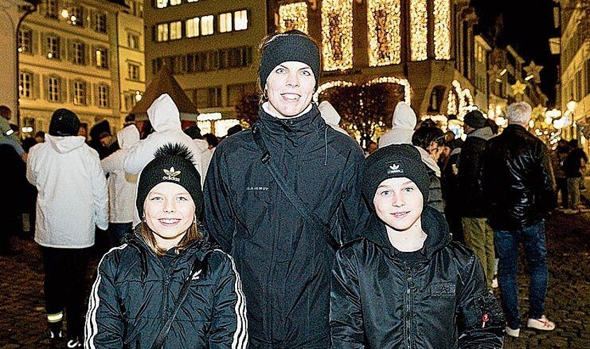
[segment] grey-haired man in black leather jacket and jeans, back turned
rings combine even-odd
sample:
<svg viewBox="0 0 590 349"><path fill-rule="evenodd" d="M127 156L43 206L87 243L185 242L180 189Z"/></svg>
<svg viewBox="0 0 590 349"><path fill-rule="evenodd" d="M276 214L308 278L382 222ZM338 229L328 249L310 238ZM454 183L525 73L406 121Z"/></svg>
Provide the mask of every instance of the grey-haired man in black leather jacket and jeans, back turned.
<svg viewBox="0 0 590 349"><path fill-rule="evenodd" d="M531 112L527 102L508 105L508 126L487 141L483 154L483 193L490 205L488 221L494 230L499 258L506 334L513 337L520 334L516 285L519 244L527 258L531 279L527 327L542 331L555 328L545 316L545 216L557 206L557 193L549 149L527 131Z"/></svg>

